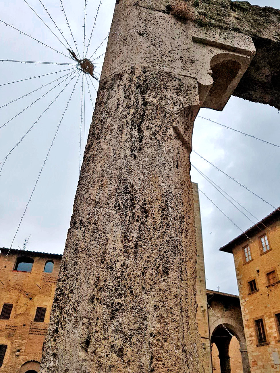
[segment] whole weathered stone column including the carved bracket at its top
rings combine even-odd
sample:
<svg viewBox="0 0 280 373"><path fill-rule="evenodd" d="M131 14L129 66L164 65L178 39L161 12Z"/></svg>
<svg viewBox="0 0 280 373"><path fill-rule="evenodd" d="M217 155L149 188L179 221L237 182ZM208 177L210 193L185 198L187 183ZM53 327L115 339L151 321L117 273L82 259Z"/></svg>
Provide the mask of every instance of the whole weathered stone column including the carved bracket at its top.
<svg viewBox="0 0 280 373"><path fill-rule="evenodd" d="M201 371L192 129L253 55L251 38L117 1L42 373Z"/></svg>

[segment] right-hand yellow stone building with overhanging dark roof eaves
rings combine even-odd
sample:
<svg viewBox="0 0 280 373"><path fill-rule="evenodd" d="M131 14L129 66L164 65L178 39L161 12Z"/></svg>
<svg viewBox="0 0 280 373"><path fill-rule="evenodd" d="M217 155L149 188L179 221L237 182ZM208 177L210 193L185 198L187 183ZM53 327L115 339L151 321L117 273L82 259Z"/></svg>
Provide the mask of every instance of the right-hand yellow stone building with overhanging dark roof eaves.
<svg viewBox="0 0 280 373"><path fill-rule="evenodd" d="M280 371L280 209L221 251L233 254L252 372Z"/></svg>

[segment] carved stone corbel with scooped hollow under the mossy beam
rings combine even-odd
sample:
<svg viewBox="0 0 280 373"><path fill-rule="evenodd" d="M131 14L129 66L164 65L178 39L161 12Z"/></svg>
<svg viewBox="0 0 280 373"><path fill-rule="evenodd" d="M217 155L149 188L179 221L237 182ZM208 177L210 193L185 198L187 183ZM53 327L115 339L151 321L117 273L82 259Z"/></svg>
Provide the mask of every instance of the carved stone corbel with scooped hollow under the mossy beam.
<svg viewBox="0 0 280 373"><path fill-rule="evenodd" d="M256 50L251 37L233 31L201 31L192 36L201 107L223 110Z"/></svg>

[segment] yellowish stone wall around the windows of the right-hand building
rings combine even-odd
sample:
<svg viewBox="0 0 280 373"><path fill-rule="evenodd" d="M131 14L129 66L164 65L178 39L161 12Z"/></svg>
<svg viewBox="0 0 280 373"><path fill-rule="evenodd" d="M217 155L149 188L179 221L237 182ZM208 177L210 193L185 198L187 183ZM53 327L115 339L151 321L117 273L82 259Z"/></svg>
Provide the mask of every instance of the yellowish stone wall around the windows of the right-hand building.
<svg viewBox="0 0 280 373"><path fill-rule="evenodd" d="M261 253L259 236L267 234L270 251ZM274 354L280 355L280 335L275 313L280 313L280 283L268 286L266 273L275 270L280 276L280 221L264 228L264 232L251 237L233 249L237 283L239 288L243 324L246 335L251 372L273 373L280 371L280 364L275 364ZM243 247L249 245L252 260L245 264ZM255 279L257 291L250 294L248 281ZM267 344L258 345L254 319L264 317L267 332Z"/></svg>

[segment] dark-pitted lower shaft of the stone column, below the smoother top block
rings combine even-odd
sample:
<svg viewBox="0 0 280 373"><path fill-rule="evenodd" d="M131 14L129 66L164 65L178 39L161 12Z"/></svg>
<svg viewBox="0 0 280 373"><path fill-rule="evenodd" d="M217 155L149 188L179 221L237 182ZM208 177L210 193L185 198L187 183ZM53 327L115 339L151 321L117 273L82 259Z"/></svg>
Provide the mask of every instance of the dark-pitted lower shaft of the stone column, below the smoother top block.
<svg viewBox="0 0 280 373"><path fill-rule="evenodd" d="M197 104L191 78L100 83L41 372L198 372L189 150L171 125L191 147Z"/></svg>

